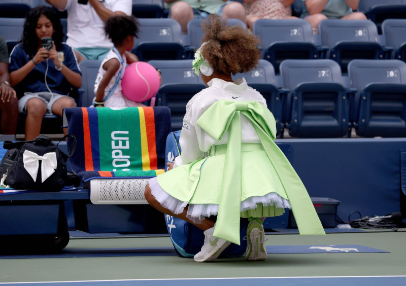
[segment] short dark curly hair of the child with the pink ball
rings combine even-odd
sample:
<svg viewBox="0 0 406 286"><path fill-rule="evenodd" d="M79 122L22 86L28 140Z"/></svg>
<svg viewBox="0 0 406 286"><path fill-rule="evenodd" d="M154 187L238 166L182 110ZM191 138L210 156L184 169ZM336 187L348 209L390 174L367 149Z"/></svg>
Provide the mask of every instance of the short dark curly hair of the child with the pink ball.
<svg viewBox="0 0 406 286"><path fill-rule="evenodd" d="M134 16L113 16L107 19L106 35L114 46L121 45L128 35L138 38L139 22Z"/></svg>

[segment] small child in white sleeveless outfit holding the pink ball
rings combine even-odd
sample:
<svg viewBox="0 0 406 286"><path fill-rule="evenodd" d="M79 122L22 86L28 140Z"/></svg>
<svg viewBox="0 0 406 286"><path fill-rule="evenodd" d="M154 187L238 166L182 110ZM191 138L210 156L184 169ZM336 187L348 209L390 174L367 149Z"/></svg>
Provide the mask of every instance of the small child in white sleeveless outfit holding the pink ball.
<svg viewBox="0 0 406 286"><path fill-rule="evenodd" d="M93 99L93 105L95 107L145 106L138 102L140 100L137 100L145 97L144 95L138 96L137 84L131 85L130 89L127 88L129 92L124 91L126 94L123 93L121 87L124 70L127 67L124 52L130 51L134 46L134 37L138 38L138 26L139 23L134 16L113 16L106 21L105 32L112 40L114 47L101 62L98 70L94 83L96 97ZM158 73L156 74L159 82ZM136 82L137 79L134 78L134 81Z"/></svg>

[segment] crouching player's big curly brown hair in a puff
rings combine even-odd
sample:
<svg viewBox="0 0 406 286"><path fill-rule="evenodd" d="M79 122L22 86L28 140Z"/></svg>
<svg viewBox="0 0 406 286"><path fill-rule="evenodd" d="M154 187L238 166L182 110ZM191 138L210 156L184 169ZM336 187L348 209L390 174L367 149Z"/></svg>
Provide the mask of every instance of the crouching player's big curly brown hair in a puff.
<svg viewBox="0 0 406 286"><path fill-rule="evenodd" d="M240 25L228 26L218 15L211 15L202 22L204 31L201 54L219 73L246 73L253 69L260 59L257 44L260 40Z"/></svg>

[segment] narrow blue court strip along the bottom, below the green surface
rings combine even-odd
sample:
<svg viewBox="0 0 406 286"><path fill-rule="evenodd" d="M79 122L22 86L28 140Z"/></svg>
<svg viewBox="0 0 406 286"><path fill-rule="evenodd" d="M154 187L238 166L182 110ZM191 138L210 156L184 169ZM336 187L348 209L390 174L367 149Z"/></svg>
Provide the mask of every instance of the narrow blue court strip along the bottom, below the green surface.
<svg viewBox="0 0 406 286"><path fill-rule="evenodd" d="M165 285L165 286L200 286L200 285L357 285L357 286L399 286L406 284L406 276L352 276L352 277L261 277L261 278L197 278L197 279L134 279L134 280L100 280L100 281L60 281L32 283L0 283L0 285L27 286L108 286L108 285Z"/></svg>

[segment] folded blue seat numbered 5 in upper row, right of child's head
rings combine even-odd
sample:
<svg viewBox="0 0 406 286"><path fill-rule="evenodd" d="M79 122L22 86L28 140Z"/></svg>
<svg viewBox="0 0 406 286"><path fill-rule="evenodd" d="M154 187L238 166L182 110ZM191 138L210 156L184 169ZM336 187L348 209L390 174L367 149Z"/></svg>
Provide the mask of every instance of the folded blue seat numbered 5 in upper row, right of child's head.
<svg viewBox="0 0 406 286"><path fill-rule="evenodd" d="M168 18L138 20L139 38L136 39L131 51L141 61L186 58L182 29L176 20Z"/></svg>

